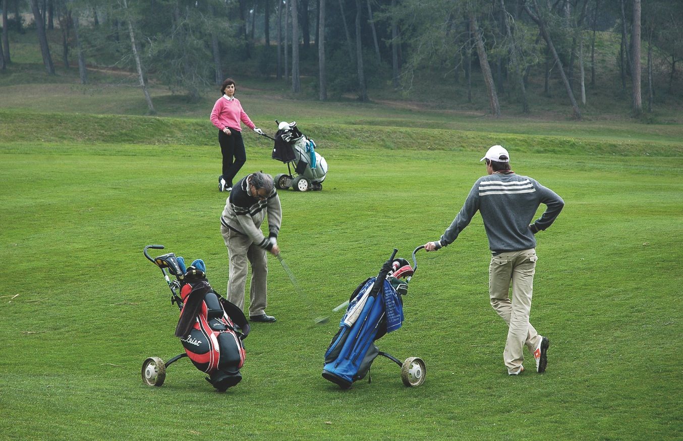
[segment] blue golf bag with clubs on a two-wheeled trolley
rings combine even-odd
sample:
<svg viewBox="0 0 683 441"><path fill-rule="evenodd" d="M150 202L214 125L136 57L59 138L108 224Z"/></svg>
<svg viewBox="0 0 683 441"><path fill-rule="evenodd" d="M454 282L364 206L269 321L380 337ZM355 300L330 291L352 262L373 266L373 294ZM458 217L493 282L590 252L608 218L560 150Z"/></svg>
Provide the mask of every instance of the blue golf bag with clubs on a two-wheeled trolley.
<svg viewBox="0 0 683 441"><path fill-rule="evenodd" d="M353 292L346 314L339 323L339 332L325 352L322 377L348 389L353 382L367 375L377 356L385 356L401 366L401 378L406 386L419 386L424 382L425 364L420 358L410 357L401 362L374 344L402 325L402 297L408 293L408 282L417 269L415 252L421 248L413 251L415 267L410 267L404 258L395 258L398 250L394 249L377 277L368 278Z"/></svg>

